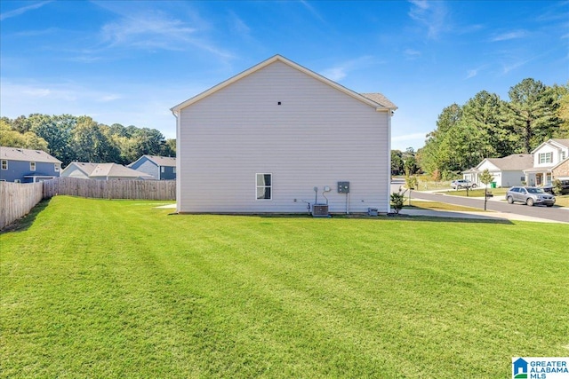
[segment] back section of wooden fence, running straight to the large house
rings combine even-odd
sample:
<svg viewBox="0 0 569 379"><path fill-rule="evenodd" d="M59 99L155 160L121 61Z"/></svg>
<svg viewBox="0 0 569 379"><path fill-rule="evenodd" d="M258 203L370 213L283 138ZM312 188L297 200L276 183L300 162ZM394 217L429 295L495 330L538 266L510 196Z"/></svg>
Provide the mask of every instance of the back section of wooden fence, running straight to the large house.
<svg viewBox="0 0 569 379"><path fill-rule="evenodd" d="M44 182L44 199L57 194L96 199L176 200L175 180L55 178Z"/></svg>

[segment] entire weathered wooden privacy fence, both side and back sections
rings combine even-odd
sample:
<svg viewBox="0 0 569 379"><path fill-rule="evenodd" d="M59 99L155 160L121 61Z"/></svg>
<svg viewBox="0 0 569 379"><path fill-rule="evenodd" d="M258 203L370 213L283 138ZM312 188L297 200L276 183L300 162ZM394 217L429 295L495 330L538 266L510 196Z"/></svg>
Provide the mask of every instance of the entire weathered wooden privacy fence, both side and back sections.
<svg viewBox="0 0 569 379"><path fill-rule="evenodd" d="M58 194L96 199L176 200L176 181L55 178L30 184L0 182L0 229L26 216L42 199Z"/></svg>

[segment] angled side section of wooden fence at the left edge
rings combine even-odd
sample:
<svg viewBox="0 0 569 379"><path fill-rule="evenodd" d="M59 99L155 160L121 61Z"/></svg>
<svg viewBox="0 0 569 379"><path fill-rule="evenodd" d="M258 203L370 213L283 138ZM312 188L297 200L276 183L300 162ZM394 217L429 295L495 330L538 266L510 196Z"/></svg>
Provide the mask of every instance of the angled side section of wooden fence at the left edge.
<svg viewBox="0 0 569 379"><path fill-rule="evenodd" d="M0 182L0 229L26 216L43 195L41 183Z"/></svg>

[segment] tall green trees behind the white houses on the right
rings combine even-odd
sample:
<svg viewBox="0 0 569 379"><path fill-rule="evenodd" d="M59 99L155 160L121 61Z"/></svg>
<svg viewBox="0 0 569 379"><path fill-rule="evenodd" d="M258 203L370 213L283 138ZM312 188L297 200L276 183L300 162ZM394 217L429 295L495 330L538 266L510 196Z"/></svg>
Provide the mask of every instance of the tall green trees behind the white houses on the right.
<svg viewBox="0 0 569 379"><path fill-rule="evenodd" d="M485 158L529 154L549 138L569 138L569 83L547 86L528 78L508 95L502 100L480 91L462 106L445 107L417 151L421 170L448 178Z"/></svg>

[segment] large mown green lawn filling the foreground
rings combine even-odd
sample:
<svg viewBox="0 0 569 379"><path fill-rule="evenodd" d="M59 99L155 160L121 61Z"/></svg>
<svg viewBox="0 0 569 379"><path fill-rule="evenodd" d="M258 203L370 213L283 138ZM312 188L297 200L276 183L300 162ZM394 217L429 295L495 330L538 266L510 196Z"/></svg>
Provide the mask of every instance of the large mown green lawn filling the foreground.
<svg viewBox="0 0 569 379"><path fill-rule="evenodd" d="M57 196L0 234L0 377L507 378L569 354L568 225L154 205Z"/></svg>

